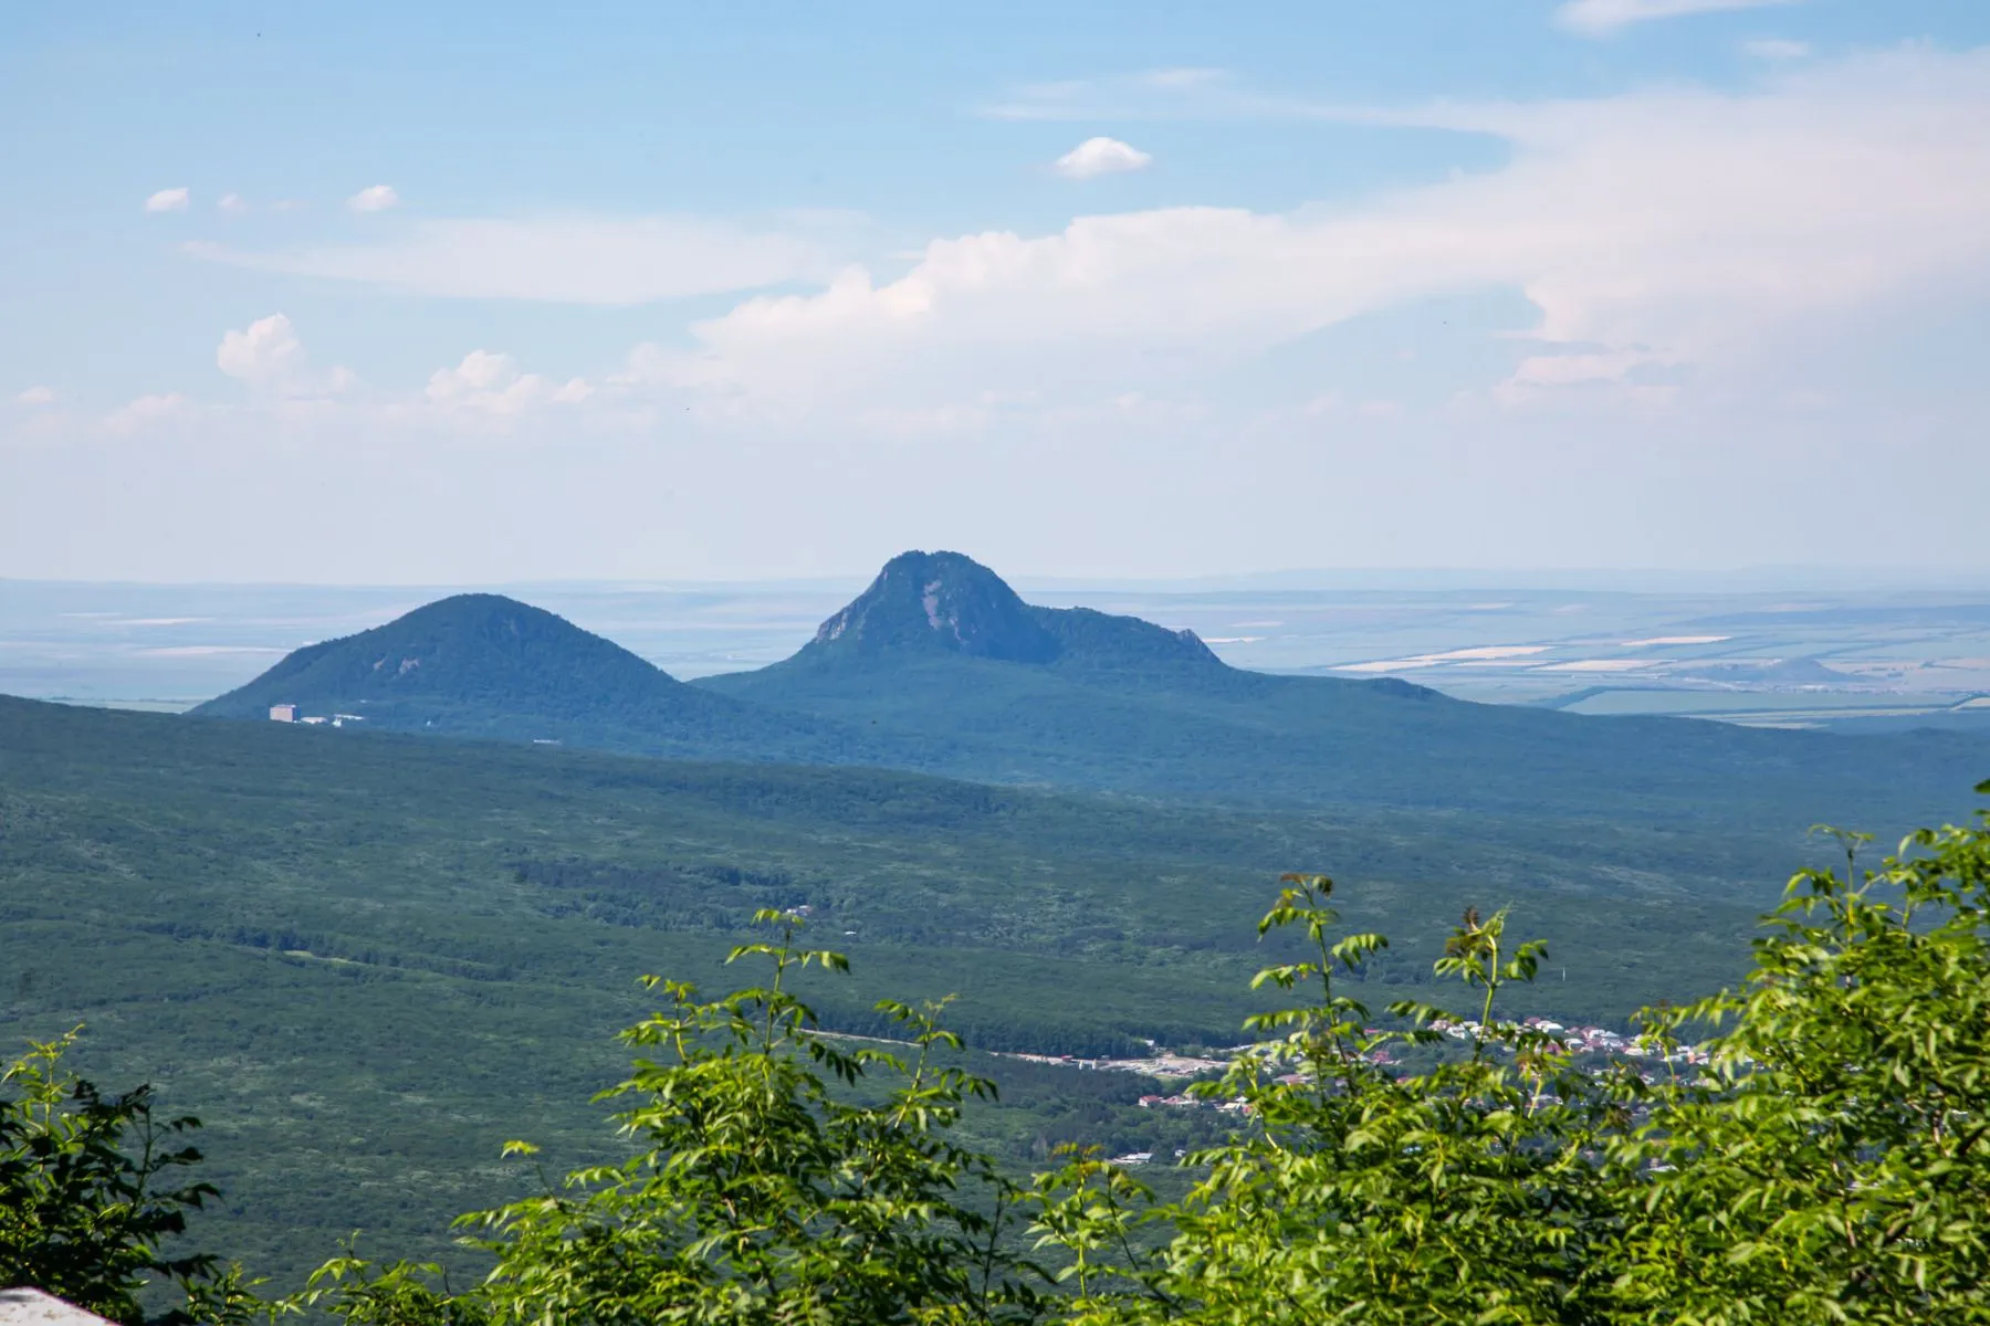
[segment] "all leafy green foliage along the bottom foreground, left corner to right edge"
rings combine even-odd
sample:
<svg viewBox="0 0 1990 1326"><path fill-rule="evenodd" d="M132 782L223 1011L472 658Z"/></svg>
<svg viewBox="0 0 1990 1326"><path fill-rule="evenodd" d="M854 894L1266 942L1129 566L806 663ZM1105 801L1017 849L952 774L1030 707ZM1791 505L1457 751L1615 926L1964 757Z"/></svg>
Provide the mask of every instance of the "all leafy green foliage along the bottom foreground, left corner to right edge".
<svg viewBox="0 0 1990 1326"><path fill-rule="evenodd" d="M1311 956L1260 974L1294 1004L1254 1020L1256 1048L1204 1087L1244 1123L1186 1157L1198 1183L1178 1203L1093 1155L1019 1185L947 1141L991 1087L945 1066L935 1010L886 1006L905 1054L824 1038L790 974L844 962L768 914L780 940L732 954L768 960L768 984L700 1002L655 982L669 1008L625 1032L643 1058L609 1095L631 1159L464 1217L496 1262L482 1284L348 1254L261 1310L360 1326L1990 1322L1990 817L1920 831L1879 871L1845 841L1843 875L1791 881L1739 990L1648 1014L1646 1058L1608 1068L1500 1018L1542 948L1510 942L1504 912L1467 912L1435 974L1471 990L1481 1030L1391 1074L1377 1050L1467 1014L1383 1018L1343 994L1387 940L1337 928L1325 877L1288 877L1260 932L1295 928ZM1707 1038L1693 1068L1688 1036ZM201 1191L145 1185L191 1153L155 1151L149 1115L103 1113L88 1089L58 1107L56 1054L16 1068L24 1097L0 1113L0 1280L131 1320L137 1280L177 1274L191 1316L259 1310L239 1276L159 1254ZM852 1103L880 1074L884 1099ZM76 1167L96 1177L60 1187ZM50 1205L58 1191L76 1207Z"/></svg>

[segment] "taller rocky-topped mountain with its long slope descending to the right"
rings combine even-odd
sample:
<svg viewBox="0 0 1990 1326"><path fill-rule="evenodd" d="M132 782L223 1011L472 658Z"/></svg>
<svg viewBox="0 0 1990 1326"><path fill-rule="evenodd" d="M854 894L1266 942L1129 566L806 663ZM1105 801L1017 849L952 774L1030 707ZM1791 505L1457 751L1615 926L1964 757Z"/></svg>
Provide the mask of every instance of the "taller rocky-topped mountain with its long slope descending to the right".
<svg viewBox="0 0 1990 1326"><path fill-rule="evenodd" d="M1990 744L1964 738L1588 718L1397 678L1246 672L1188 630L1027 604L959 553L894 557L792 658L693 686L862 730L903 767L1282 805L1892 823L1958 807L1990 773Z"/></svg>

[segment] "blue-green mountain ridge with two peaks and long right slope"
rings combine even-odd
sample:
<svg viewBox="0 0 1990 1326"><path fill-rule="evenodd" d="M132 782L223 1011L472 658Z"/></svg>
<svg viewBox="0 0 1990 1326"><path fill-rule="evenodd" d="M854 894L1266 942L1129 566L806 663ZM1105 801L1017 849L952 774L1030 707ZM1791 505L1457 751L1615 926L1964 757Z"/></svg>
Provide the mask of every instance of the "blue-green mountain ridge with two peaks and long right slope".
<svg viewBox="0 0 1990 1326"><path fill-rule="evenodd" d="M1397 678L1248 672L1192 632L1023 602L905 553L794 656L683 684L551 612L460 594L291 654L195 710L625 753L856 763L1266 807L1564 819L1926 821L1990 773L1962 734L1839 738L1453 700Z"/></svg>

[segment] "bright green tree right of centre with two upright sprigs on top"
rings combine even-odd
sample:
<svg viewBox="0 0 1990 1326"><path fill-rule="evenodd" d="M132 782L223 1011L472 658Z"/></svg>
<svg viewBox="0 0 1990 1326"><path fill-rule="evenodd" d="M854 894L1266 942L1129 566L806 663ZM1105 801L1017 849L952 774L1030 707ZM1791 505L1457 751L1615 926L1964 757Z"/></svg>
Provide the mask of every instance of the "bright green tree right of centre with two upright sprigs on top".
<svg viewBox="0 0 1990 1326"><path fill-rule="evenodd" d="M1120 1246L1124 1256L1081 1288L1081 1322L1574 1322L1596 1292L1594 1246L1608 1193L1592 1161L1620 1109L1612 1083L1578 1074L1540 1032L1492 1018L1498 988L1532 976L1540 944L1506 948L1506 916L1467 912L1439 976L1483 988L1469 1056L1429 1074L1391 1076L1375 1052L1437 1040L1447 1016L1397 1004L1407 1030L1367 1030L1369 1010L1335 992L1387 946L1335 936L1333 881L1290 875L1260 934L1303 928L1313 958L1260 972L1260 984L1317 990L1252 1020L1266 1036L1208 1087L1244 1103L1248 1125L1188 1157L1206 1165L1190 1195L1128 1215L1112 1177L1081 1161L1041 1181L1085 1187L1039 1221L1061 1246ZM1504 1054L1496 1054L1502 1050ZM1087 1183L1091 1179L1091 1183ZM1118 1181L1122 1183L1122 1181ZM1158 1223L1172 1241L1134 1254L1112 1225ZM1114 1274L1116 1272L1116 1274Z"/></svg>

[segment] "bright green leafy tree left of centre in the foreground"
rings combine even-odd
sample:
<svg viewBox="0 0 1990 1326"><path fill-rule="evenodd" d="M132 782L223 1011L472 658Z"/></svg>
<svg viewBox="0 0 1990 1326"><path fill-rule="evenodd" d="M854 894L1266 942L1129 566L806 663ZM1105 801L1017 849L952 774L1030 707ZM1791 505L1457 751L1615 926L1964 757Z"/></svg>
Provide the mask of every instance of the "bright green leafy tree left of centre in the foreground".
<svg viewBox="0 0 1990 1326"><path fill-rule="evenodd" d="M478 1290L436 1294L418 1268L342 1258L300 1306L366 1326L1037 1318L1041 1276L1003 1246L1015 1185L945 1137L963 1099L993 1083L939 1064L959 1042L933 1008L880 1004L905 1056L824 1036L790 978L848 962L798 948L794 914L756 920L778 942L728 962L768 960L768 984L700 1002L689 984L647 980L669 1006L623 1032L643 1058L605 1093L625 1103L617 1123L637 1155L460 1221L498 1258ZM894 1081L878 1105L832 1089L878 1072Z"/></svg>

